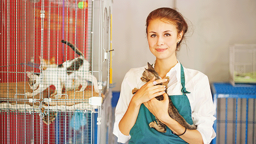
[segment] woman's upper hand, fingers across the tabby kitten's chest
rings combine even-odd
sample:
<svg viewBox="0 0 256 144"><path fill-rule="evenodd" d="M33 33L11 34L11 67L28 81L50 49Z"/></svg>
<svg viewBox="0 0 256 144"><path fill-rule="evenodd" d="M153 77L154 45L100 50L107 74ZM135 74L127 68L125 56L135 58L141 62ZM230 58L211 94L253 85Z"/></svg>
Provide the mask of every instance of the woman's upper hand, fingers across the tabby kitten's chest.
<svg viewBox="0 0 256 144"><path fill-rule="evenodd" d="M154 85L153 81L155 77L148 81L146 84L141 86L141 88L136 92L136 94L132 97L131 101L138 106L141 104L150 101L152 98L157 97L159 95L163 95L165 93L165 86L163 85ZM166 82L167 79L159 79L156 80L156 84L160 84Z"/></svg>

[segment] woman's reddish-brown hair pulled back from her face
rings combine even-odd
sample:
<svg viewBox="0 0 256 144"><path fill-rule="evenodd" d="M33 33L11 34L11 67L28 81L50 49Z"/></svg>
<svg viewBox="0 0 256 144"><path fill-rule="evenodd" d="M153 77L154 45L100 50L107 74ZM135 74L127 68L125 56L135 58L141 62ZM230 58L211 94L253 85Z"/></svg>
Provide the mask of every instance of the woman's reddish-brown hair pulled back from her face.
<svg viewBox="0 0 256 144"><path fill-rule="evenodd" d="M182 42L185 33L188 30L188 25L186 21L184 20L182 14L177 12L175 9L171 8L159 8L154 11L152 11L150 14L148 14L147 20L146 20L146 32L148 34L148 25L151 20L160 19L168 23L172 23L176 26L178 34L183 31L183 37L181 37L181 40L179 43L177 43L176 51L179 50L180 43Z"/></svg>

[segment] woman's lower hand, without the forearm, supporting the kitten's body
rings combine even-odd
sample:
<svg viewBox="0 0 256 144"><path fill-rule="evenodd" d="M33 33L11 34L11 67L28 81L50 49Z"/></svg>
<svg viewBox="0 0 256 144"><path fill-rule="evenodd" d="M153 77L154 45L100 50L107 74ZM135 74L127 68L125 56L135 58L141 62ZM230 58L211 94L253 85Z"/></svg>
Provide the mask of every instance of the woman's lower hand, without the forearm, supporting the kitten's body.
<svg viewBox="0 0 256 144"><path fill-rule="evenodd" d="M170 118L168 114L169 98L166 93L163 94L163 101L158 101L156 98L152 98L150 101L145 102L144 105L161 122Z"/></svg>

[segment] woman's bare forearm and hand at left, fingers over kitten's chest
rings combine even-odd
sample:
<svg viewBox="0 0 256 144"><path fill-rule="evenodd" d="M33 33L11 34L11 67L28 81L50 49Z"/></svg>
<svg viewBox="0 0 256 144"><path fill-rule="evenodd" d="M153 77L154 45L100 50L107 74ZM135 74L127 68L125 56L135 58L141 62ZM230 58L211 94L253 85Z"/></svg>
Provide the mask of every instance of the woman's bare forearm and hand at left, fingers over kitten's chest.
<svg viewBox="0 0 256 144"><path fill-rule="evenodd" d="M152 80L148 81L143 85L136 94L131 98L131 102L125 112L125 115L122 117L119 122L119 130L124 135L129 135L131 128L134 126L137 116L140 111L140 105L151 100L152 98L163 95L165 87L163 85L155 85ZM156 80L157 84L167 81L166 79Z"/></svg>

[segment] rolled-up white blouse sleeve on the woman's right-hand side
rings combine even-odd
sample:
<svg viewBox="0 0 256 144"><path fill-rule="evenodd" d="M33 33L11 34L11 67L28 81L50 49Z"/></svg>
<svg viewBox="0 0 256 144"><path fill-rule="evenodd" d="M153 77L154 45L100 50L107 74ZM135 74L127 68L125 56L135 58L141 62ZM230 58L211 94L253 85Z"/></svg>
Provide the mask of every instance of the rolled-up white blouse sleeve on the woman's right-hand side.
<svg viewBox="0 0 256 144"><path fill-rule="evenodd" d="M212 94L209 86L209 80L206 75L198 81L194 87L195 107L192 112L192 118L197 130L203 137L204 144L209 144L216 133L213 130L213 123L216 118L213 116L215 107L212 102Z"/></svg>

